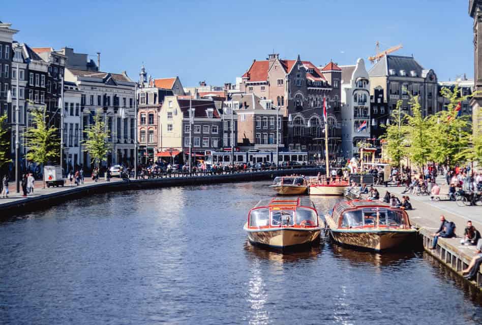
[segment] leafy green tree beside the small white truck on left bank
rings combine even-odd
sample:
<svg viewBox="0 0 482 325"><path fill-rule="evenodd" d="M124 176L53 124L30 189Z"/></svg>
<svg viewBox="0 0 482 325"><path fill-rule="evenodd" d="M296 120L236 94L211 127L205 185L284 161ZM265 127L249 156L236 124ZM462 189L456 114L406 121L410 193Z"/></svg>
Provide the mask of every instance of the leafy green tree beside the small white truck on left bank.
<svg viewBox="0 0 482 325"><path fill-rule="evenodd" d="M43 109L31 111L33 125L27 127L23 135L25 146L28 148L26 158L44 165L56 160L60 154L58 128L53 125L47 126L46 109L44 106ZM43 185L45 186L45 175Z"/></svg>

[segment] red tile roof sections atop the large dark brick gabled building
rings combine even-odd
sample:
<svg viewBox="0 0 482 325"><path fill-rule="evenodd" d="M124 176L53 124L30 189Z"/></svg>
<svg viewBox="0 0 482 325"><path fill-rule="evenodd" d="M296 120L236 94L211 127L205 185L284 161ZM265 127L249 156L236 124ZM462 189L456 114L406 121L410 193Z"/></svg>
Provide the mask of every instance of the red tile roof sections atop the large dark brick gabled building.
<svg viewBox="0 0 482 325"><path fill-rule="evenodd" d="M286 73L289 73L293 68L296 60L280 60L281 65L285 69ZM311 63L310 61L302 61L303 65L307 69L313 69L313 73L307 73L306 77L313 81L326 81L323 74L320 72L316 66ZM340 68L334 64L335 67L341 71ZM243 75L243 78L248 78L249 81L266 81L268 79L268 69L269 69L269 61L254 61L251 64L249 70Z"/></svg>

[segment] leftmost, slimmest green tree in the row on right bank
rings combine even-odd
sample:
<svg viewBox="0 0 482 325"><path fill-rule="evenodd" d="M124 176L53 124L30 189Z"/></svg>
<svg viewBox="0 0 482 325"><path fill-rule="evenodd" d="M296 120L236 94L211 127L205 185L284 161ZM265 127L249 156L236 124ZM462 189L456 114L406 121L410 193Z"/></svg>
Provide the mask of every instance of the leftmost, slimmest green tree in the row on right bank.
<svg viewBox="0 0 482 325"><path fill-rule="evenodd" d="M382 139L385 139L386 151L388 157L390 157L392 164L400 166L400 161L407 155L406 150L406 126L404 125L404 115L402 115L402 101L397 101L397 108L391 113L391 120L396 123L385 126L385 135Z"/></svg>

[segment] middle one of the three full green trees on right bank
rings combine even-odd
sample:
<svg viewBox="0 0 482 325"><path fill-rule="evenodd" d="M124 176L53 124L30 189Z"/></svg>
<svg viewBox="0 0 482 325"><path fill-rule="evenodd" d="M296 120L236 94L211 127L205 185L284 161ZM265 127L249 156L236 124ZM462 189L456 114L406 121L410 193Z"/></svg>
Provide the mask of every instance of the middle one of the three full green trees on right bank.
<svg viewBox="0 0 482 325"><path fill-rule="evenodd" d="M434 123L431 116L424 117L422 115L418 95L410 95L409 105L412 115L406 115L407 153L415 165L423 168L429 161L433 150L430 136L433 132Z"/></svg>

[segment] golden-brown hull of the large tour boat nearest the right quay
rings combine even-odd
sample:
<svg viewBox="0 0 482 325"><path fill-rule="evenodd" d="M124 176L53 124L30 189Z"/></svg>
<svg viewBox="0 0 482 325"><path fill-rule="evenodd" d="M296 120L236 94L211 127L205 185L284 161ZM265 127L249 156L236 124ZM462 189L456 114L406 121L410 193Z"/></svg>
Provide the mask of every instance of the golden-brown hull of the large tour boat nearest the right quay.
<svg viewBox="0 0 482 325"><path fill-rule="evenodd" d="M415 238L415 234L416 231L412 229L373 231L342 231L330 229L330 235L339 244L376 251L402 248L404 243Z"/></svg>

